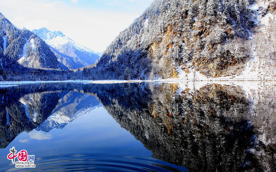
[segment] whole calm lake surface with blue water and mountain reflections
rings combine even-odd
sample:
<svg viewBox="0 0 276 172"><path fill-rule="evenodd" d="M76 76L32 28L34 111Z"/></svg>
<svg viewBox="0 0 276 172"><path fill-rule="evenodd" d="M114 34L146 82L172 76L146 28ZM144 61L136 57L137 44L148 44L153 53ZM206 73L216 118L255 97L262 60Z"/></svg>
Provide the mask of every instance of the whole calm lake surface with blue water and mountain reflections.
<svg viewBox="0 0 276 172"><path fill-rule="evenodd" d="M257 86L0 88L0 171L276 171L276 86ZM36 168L15 168L13 147Z"/></svg>

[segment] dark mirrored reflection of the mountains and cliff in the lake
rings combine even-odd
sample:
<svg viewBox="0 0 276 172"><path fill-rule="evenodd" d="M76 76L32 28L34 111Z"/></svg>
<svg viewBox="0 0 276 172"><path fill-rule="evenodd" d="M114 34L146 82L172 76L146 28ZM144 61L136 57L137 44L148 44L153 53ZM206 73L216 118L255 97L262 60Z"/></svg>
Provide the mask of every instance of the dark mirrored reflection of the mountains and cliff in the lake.
<svg viewBox="0 0 276 172"><path fill-rule="evenodd" d="M276 171L275 85L249 92L239 86L208 84L193 90L183 85L2 88L1 148L23 131L63 128L101 102L156 159L189 171ZM66 122L57 120L60 115Z"/></svg>

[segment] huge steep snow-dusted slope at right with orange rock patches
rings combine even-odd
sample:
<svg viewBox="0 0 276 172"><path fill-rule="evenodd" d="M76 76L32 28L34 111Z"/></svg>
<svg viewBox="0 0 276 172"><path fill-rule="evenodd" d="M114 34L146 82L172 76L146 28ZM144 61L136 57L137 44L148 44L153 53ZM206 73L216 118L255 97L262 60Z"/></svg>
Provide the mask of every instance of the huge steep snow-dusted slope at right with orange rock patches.
<svg viewBox="0 0 276 172"><path fill-rule="evenodd" d="M259 37L255 32L257 26L263 27L260 19L274 13L274 3L155 1L109 45L91 75L104 79L186 75L191 79L196 72L205 77L241 75L255 57L254 41Z"/></svg>

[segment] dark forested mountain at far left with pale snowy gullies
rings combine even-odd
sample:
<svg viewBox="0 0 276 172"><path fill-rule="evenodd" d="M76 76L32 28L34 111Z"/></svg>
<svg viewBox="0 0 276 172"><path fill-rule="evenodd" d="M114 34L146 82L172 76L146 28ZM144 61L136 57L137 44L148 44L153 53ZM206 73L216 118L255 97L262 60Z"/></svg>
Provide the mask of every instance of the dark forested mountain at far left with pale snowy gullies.
<svg viewBox="0 0 276 172"><path fill-rule="evenodd" d="M0 30L1 67L19 63L25 67L60 68L56 56L43 40L28 30L16 28L1 13Z"/></svg>

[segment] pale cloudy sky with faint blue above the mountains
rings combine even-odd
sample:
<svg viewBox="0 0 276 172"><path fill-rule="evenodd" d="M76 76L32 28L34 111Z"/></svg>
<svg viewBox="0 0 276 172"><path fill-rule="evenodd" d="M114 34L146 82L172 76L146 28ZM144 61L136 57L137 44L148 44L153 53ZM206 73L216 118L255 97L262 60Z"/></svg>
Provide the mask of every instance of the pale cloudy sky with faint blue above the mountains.
<svg viewBox="0 0 276 172"><path fill-rule="evenodd" d="M0 0L14 25L60 30L77 43L102 52L153 0Z"/></svg>

